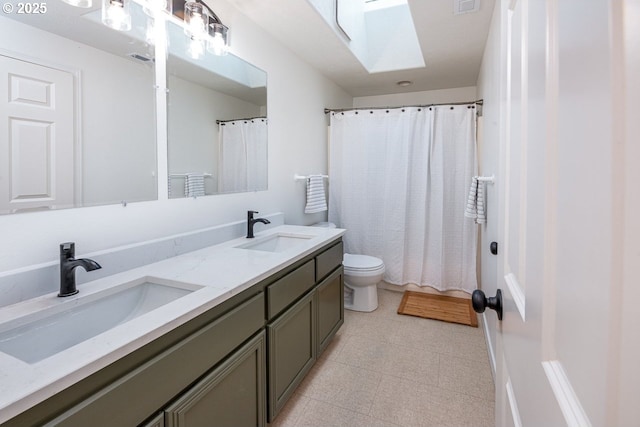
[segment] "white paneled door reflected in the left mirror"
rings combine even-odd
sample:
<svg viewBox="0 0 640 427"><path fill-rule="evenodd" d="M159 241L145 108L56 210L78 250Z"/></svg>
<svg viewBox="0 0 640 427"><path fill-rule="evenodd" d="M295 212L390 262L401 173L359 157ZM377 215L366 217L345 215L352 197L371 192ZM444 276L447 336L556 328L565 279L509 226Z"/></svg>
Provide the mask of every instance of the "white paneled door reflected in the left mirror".
<svg viewBox="0 0 640 427"><path fill-rule="evenodd" d="M0 213L73 206L70 73L0 55L0 136Z"/></svg>

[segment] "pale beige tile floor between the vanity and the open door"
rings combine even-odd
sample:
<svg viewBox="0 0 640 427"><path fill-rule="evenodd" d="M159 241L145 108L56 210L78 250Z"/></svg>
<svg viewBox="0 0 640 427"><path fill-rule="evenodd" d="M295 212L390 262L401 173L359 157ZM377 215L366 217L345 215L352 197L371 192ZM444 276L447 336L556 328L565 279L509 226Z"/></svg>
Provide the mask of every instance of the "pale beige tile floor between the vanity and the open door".
<svg viewBox="0 0 640 427"><path fill-rule="evenodd" d="M396 314L378 290L372 313L345 321L271 424L493 426L494 385L481 328Z"/></svg>

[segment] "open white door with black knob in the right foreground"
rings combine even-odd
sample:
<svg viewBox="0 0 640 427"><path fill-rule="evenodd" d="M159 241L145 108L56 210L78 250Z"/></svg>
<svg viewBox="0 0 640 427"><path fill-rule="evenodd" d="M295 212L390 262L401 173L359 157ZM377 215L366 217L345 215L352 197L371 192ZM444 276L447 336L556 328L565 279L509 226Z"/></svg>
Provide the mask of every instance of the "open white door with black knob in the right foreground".
<svg viewBox="0 0 640 427"><path fill-rule="evenodd" d="M640 1L496 7L496 424L640 425Z"/></svg>

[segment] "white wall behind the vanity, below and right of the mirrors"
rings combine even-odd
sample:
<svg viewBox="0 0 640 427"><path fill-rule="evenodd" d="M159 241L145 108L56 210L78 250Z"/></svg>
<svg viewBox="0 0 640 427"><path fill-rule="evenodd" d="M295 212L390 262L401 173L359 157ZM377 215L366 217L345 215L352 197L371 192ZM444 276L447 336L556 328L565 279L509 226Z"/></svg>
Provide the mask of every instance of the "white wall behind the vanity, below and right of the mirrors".
<svg viewBox="0 0 640 427"><path fill-rule="evenodd" d="M304 185L293 175L326 173L323 108L349 107L351 97L228 3L217 0L214 10L231 28L232 52L268 73L269 190L2 216L0 275L56 262L61 242L75 241L82 256L242 220L248 209L261 214L282 211L290 224L326 219L322 213L303 213ZM52 291L56 286L52 284Z"/></svg>

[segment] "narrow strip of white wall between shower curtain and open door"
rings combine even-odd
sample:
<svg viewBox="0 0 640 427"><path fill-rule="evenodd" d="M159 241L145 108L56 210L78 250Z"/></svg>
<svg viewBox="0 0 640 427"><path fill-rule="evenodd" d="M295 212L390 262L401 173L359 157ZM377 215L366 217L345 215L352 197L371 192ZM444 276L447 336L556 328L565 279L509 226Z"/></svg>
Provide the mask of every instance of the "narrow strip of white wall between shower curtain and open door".
<svg viewBox="0 0 640 427"><path fill-rule="evenodd" d="M499 176L499 149L500 149L500 8L495 7L491 29L487 37L482 66L478 76L479 99L484 100L482 108L482 141L479 147L480 173L482 175L495 175L496 184L487 185L486 211L487 223L480 229L480 241L478 243L478 255L480 257L480 276L478 286L487 296L494 296L498 283L498 257L489 252L491 242L498 241L498 189L501 181ZM500 242L498 242L500 243ZM500 251L500 246L498 246ZM488 313L485 327L488 333L489 351L492 352L496 345L497 319L492 313ZM495 360L492 364L495 373Z"/></svg>

